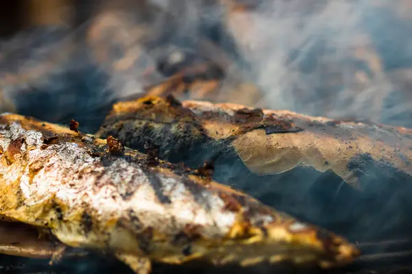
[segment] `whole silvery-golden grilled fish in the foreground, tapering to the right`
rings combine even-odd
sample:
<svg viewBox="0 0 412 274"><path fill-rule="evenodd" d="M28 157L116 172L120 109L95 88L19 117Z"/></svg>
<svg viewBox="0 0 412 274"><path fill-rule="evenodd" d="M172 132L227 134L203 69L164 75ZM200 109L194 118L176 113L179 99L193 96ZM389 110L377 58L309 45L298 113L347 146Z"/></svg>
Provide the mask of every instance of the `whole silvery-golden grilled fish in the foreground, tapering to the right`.
<svg viewBox="0 0 412 274"><path fill-rule="evenodd" d="M0 116L0 214L63 244L111 250L137 273L149 260L216 264L352 262L340 236L264 206L196 171L25 116Z"/></svg>

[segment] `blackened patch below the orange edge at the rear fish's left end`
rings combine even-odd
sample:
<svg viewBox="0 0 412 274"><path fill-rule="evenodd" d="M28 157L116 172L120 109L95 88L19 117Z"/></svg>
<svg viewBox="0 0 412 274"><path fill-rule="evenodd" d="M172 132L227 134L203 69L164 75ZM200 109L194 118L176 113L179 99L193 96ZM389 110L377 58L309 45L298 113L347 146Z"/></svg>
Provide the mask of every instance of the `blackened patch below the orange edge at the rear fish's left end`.
<svg viewBox="0 0 412 274"><path fill-rule="evenodd" d="M227 145L207 136L205 129L196 121L175 121L176 123L158 123L136 115L113 115L105 121L98 137L111 135L127 147L143 153L150 153L150 149L145 148L145 142L150 140L152 145L159 147L159 159L172 163L185 162L192 169L213 158Z"/></svg>

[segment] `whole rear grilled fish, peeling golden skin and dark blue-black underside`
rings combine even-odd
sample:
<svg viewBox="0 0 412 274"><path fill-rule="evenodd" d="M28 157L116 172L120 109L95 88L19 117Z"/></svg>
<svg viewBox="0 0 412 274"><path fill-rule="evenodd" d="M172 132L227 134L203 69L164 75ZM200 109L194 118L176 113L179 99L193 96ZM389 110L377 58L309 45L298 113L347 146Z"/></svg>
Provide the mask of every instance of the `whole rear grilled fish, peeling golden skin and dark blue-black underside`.
<svg viewBox="0 0 412 274"><path fill-rule="evenodd" d="M184 137L182 128L190 129ZM212 160L217 182L365 241L409 235L411 133L287 110L143 97L113 105L97 135L135 149L153 140L159 158L192 168ZM399 215L402 221L385 221ZM372 235L370 225L382 230Z"/></svg>

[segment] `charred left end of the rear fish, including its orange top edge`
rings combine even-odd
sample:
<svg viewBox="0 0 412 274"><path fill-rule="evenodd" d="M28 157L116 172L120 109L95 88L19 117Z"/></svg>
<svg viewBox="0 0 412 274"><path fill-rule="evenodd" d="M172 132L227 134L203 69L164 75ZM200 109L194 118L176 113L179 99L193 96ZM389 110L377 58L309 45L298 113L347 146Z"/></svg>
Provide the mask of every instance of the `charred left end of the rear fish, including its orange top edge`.
<svg viewBox="0 0 412 274"><path fill-rule="evenodd" d="M215 140L207 135L196 116L181 106L172 96L144 97L137 100L138 111L133 111L136 101L124 101L113 106L100 130L99 138L113 136L124 145L150 153L144 144L148 141L159 147L159 157L169 162L184 162L197 168L212 160L229 147L228 140ZM130 112L128 111L130 110ZM147 119L150 116L152 119Z"/></svg>

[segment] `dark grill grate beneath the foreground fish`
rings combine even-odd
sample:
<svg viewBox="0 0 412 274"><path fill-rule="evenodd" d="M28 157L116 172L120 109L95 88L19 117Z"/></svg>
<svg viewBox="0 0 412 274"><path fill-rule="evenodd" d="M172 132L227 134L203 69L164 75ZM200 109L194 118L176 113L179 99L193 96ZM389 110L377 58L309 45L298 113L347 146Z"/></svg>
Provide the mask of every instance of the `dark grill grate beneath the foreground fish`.
<svg viewBox="0 0 412 274"><path fill-rule="evenodd" d="M289 264L277 266L254 266L240 269L239 266L170 266L155 264L153 273L319 273L319 274L401 274L412 273L412 239L381 240L377 242L361 242L356 244L361 255L353 264L342 269L308 269L297 268ZM0 274L69 274L69 273L124 273L133 272L116 260L108 260L101 256L87 256L82 259L65 259L59 264L49 266L47 260L0 256Z"/></svg>

